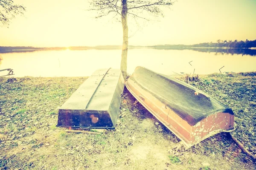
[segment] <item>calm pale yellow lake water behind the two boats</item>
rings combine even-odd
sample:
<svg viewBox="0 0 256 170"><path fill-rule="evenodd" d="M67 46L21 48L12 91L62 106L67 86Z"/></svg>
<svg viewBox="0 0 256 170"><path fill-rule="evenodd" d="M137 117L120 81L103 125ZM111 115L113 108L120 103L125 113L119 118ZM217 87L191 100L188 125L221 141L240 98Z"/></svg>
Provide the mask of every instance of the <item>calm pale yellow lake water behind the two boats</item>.
<svg viewBox="0 0 256 170"><path fill-rule="evenodd" d="M99 68L119 68L121 50L34 51L0 54L0 70L12 68L15 77L85 77ZM191 65L189 65L189 62ZM144 66L162 74L211 74L256 71L256 56L191 50L129 49L128 73ZM0 72L0 75L7 71Z"/></svg>

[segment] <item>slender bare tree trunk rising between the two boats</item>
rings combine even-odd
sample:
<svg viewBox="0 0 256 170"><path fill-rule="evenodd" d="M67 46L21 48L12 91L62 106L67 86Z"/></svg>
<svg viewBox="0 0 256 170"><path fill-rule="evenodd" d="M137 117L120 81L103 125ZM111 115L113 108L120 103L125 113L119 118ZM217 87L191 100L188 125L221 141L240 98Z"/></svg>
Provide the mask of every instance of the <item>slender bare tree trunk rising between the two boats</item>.
<svg viewBox="0 0 256 170"><path fill-rule="evenodd" d="M120 69L124 79L127 77L127 52L128 52L128 25L127 25L127 0L122 0L122 28L123 28L123 45Z"/></svg>

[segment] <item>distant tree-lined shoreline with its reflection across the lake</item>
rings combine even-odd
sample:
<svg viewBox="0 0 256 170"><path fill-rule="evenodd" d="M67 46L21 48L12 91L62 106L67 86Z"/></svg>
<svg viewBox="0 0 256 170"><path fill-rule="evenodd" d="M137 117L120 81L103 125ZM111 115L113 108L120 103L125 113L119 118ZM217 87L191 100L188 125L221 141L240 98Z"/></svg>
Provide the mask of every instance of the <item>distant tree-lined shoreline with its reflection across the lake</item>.
<svg viewBox="0 0 256 170"><path fill-rule="evenodd" d="M158 49L158 50L193 50L199 52L214 52L216 54L241 54L256 56L256 40L253 41L222 41L218 40L217 43L204 42L194 45L128 45L128 49ZM122 50L122 45L98 45L98 46L70 46L70 47L3 47L0 46L1 53L12 52L33 52L33 51L58 51L58 50Z"/></svg>

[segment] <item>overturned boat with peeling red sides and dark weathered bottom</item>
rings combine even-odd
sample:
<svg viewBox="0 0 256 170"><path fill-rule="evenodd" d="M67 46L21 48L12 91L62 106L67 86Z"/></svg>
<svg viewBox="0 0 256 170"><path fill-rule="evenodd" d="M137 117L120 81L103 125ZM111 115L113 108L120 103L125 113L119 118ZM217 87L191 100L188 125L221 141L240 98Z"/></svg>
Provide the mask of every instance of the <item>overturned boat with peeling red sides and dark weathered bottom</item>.
<svg viewBox="0 0 256 170"><path fill-rule="evenodd" d="M139 66L125 85L186 148L235 129L230 108L185 82Z"/></svg>

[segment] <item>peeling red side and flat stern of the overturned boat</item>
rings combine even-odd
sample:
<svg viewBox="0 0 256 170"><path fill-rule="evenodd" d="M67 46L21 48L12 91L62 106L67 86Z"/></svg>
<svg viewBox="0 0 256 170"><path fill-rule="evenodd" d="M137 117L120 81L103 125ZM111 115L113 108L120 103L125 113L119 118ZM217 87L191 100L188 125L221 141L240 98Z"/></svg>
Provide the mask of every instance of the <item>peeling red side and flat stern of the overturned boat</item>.
<svg viewBox="0 0 256 170"><path fill-rule="evenodd" d="M189 113L182 114L182 116L185 115L182 118L179 110L175 110L161 101L156 94L139 85L135 79L136 77L134 78L132 75L132 78L125 82L128 91L163 125L171 130L182 141L186 149L217 133L235 130L233 127L234 115L227 112L230 111L229 108L221 105L212 113L208 113L208 116L198 119L197 122L189 122L187 120L192 119Z"/></svg>

